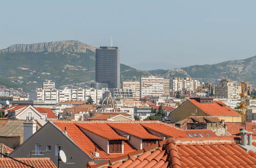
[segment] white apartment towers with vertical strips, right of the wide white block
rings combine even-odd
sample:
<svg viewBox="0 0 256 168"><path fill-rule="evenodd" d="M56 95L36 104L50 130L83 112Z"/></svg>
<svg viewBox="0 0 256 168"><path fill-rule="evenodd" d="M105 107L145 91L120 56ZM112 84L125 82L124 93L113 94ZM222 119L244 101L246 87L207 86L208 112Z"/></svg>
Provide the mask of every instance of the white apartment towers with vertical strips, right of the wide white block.
<svg viewBox="0 0 256 168"><path fill-rule="evenodd" d="M170 90L177 91L191 91L195 92L197 87L201 86L201 81L195 80L191 77L174 77L170 80Z"/></svg>

